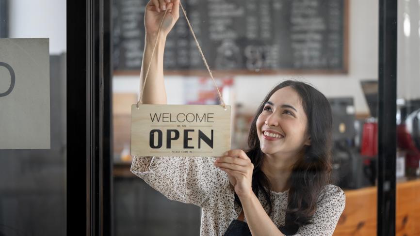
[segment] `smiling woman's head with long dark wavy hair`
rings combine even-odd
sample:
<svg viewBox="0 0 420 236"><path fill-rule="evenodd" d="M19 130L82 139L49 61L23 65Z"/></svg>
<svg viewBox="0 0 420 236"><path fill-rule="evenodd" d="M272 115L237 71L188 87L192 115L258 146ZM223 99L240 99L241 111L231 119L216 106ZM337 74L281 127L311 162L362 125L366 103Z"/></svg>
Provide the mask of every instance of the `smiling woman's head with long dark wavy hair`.
<svg viewBox="0 0 420 236"><path fill-rule="evenodd" d="M317 198L331 172L331 129L328 100L303 82L280 83L258 108L249 132L247 154L256 166L255 183L262 191L270 186L276 191L289 189L288 224L306 225L319 208ZM265 132L282 137L273 139ZM341 201L344 206L344 198ZM267 202L271 205L270 199Z"/></svg>

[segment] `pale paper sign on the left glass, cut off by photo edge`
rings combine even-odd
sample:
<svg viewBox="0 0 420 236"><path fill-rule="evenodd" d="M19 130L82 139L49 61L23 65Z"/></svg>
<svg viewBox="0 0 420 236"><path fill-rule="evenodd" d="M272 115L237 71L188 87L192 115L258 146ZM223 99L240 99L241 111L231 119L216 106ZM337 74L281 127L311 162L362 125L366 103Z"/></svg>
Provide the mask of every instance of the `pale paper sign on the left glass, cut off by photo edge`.
<svg viewBox="0 0 420 236"><path fill-rule="evenodd" d="M49 40L0 39L0 149L49 148Z"/></svg>

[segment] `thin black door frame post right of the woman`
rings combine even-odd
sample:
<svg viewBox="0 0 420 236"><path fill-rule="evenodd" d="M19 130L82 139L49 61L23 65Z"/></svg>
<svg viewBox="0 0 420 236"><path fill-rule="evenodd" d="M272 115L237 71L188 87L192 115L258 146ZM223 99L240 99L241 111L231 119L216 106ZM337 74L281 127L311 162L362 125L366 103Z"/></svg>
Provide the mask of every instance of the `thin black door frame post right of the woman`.
<svg viewBox="0 0 420 236"><path fill-rule="evenodd" d="M395 235L397 0L379 0L377 235Z"/></svg>

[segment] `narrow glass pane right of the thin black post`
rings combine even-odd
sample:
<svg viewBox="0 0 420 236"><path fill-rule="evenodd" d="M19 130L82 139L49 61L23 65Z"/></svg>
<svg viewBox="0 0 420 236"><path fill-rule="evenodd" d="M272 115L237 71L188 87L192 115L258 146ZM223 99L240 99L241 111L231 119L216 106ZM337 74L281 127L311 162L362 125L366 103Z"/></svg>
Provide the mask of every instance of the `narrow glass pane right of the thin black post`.
<svg viewBox="0 0 420 236"><path fill-rule="evenodd" d="M420 1L398 1L397 235L420 232Z"/></svg>

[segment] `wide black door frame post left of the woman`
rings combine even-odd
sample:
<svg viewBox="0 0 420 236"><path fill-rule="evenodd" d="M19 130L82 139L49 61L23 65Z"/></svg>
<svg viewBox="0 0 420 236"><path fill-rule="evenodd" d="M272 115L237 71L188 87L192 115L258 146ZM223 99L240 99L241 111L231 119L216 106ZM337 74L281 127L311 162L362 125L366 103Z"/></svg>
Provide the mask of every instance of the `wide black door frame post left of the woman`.
<svg viewBox="0 0 420 236"><path fill-rule="evenodd" d="M110 0L67 0L67 235L112 235Z"/></svg>

